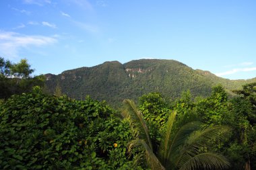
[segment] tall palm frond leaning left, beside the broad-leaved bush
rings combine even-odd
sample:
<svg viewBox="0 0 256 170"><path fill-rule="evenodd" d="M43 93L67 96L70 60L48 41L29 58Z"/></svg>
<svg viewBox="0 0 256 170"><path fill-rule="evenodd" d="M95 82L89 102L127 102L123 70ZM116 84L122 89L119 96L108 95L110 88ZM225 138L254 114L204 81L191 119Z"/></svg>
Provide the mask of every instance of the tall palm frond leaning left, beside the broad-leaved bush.
<svg viewBox="0 0 256 170"><path fill-rule="evenodd" d="M142 118L141 112L139 112L136 108L135 103L130 99L125 99L123 101L125 104L126 110L124 111L125 116L135 124L135 127L139 130L139 138L143 139L148 146L150 146L151 150L153 150L152 142L150 140L150 134L148 132L148 126L146 125L145 120Z"/></svg>

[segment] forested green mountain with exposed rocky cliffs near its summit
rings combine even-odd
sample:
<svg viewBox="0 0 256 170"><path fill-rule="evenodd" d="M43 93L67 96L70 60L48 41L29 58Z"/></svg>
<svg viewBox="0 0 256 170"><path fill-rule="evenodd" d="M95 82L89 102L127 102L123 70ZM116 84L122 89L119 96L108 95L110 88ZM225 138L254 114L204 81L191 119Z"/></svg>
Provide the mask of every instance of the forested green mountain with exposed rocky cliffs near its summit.
<svg viewBox="0 0 256 170"><path fill-rule="evenodd" d="M119 105L123 99L157 91L174 99L182 91L193 96L207 96L214 85L222 84L228 91L240 89L249 80L229 80L217 77L209 71L193 70L176 60L141 59L125 64L118 61L104 62L95 67L82 67L64 71L60 75L46 74L46 87L51 93L57 85L62 92L75 99L90 95Z"/></svg>

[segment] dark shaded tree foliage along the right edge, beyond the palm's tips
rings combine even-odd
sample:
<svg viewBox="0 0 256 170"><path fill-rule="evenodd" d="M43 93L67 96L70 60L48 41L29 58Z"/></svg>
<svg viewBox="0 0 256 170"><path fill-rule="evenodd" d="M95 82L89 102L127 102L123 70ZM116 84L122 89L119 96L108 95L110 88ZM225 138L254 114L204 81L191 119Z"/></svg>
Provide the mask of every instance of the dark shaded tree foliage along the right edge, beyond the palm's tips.
<svg viewBox="0 0 256 170"><path fill-rule="evenodd" d="M239 95L230 100L228 114L223 118L234 129L225 149L233 161L233 169L256 168L255 86L250 83L234 91Z"/></svg>

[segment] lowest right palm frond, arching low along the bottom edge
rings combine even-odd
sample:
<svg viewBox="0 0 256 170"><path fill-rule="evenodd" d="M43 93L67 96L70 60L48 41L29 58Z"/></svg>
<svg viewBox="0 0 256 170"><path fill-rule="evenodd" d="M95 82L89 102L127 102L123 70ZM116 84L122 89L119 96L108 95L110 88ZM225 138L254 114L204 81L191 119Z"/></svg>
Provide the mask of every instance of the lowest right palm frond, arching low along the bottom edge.
<svg viewBox="0 0 256 170"><path fill-rule="evenodd" d="M230 167L230 163L222 155L216 153L201 153L189 159L180 169L227 169L228 167Z"/></svg>

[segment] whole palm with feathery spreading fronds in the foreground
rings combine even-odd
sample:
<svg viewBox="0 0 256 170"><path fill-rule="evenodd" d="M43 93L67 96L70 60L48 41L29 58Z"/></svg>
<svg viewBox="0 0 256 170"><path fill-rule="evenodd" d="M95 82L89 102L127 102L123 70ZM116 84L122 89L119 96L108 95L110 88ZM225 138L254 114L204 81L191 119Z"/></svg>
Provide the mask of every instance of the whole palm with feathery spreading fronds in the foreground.
<svg viewBox="0 0 256 170"><path fill-rule="evenodd" d="M158 153L155 154L148 127L141 112L137 110L133 101L125 99L123 103L126 108L123 116L131 121L132 127L138 132L136 139L129 142L128 151L131 152L135 147L142 147L151 169L226 169L230 167L230 163L224 156L205 151L212 146L212 141L224 137L224 134L230 130L227 126L211 126L201 130L201 122L193 118L177 121L177 113L172 112Z"/></svg>

